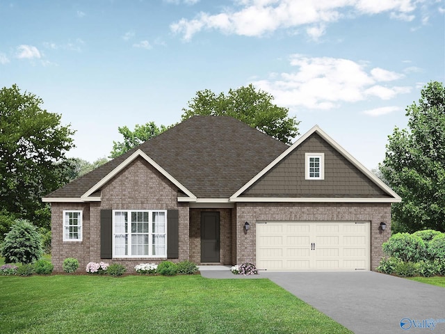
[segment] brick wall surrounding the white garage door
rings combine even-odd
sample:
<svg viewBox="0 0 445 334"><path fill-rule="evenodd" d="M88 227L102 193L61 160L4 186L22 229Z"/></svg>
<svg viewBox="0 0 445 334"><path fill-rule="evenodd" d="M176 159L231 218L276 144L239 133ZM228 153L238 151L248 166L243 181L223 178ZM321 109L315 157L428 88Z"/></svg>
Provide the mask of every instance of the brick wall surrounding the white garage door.
<svg viewBox="0 0 445 334"><path fill-rule="evenodd" d="M250 230L244 231L244 223ZM391 205L385 203L238 203L236 263L256 261L257 221L371 221L371 270L378 267L382 243L391 236ZM380 222L387 230L380 231Z"/></svg>

